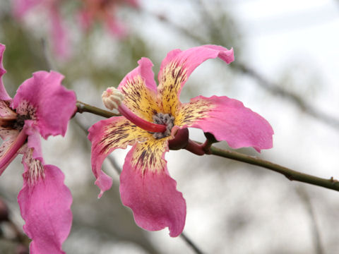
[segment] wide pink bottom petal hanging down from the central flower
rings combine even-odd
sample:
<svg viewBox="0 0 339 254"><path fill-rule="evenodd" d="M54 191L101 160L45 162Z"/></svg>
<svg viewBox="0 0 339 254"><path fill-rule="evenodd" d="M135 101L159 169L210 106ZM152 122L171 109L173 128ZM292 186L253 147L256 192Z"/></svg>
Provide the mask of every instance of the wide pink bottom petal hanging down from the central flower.
<svg viewBox="0 0 339 254"><path fill-rule="evenodd" d="M148 140L132 147L121 172L120 193L138 226L150 231L168 226L174 237L184 229L186 202L168 174L165 140Z"/></svg>

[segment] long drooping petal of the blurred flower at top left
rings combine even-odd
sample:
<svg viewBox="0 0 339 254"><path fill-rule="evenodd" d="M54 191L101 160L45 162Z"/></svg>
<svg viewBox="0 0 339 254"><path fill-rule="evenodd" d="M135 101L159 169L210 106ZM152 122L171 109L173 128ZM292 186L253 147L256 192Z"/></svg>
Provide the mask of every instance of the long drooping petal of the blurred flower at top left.
<svg viewBox="0 0 339 254"><path fill-rule="evenodd" d="M69 38L67 36L64 26L62 25L59 9L57 8L56 4L53 4L50 7L49 11L52 20L51 31L54 54L60 59L67 59L70 55Z"/></svg>

